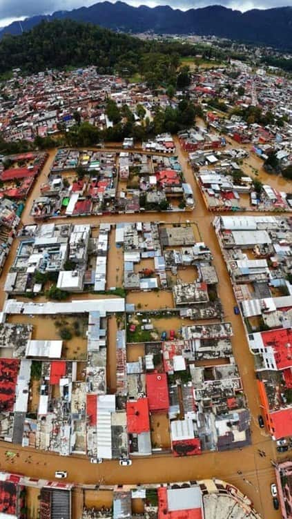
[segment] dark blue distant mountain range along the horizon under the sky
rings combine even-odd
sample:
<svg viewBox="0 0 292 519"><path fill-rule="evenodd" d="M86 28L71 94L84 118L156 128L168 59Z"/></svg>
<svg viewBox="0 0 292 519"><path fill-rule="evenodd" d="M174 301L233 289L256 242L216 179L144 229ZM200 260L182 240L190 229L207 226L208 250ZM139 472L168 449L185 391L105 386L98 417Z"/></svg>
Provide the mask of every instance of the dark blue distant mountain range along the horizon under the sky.
<svg viewBox="0 0 292 519"><path fill-rule="evenodd" d="M98 24L106 28L124 32L153 31L159 34L215 35L265 46L289 50L292 48L292 8L240 12L222 6L181 11L169 6L138 8L118 1L95 3L88 8L72 11L57 11L51 16L36 16L21 22L14 21L0 31L21 34L36 26L41 20L72 19Z"/></svg>

